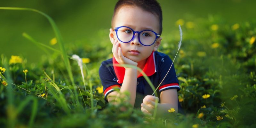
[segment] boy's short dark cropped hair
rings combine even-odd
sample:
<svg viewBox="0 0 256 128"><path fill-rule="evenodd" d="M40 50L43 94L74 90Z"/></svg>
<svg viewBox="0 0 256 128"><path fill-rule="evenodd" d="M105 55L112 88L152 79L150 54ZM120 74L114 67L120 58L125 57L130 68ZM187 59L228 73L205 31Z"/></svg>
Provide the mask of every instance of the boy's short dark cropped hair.
<svg viewBox="0 0 256 128"><path fill-rule="evenodd" d="M113 20L115 18L116 12L118 9L120 9L122 6L126 5L133 5L140 7L142 10L150 12L158 17L159 20L159 35L162 34L162 21L163 21L163 16L162 16L162 9L159 5L159 3L156 0L118 0L116 3L115 9L114 9L114 14L112 17L112 28L113 28Z"/></svg>

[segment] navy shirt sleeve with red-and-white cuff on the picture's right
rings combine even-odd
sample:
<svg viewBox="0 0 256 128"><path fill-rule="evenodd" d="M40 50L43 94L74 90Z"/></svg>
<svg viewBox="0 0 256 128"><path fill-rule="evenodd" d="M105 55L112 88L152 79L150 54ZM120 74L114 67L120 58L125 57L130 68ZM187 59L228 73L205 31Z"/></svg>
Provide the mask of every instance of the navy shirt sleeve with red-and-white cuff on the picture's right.
<svg viewBox="0 0 256 128"><path fill-rule="evenodd" d="M172 68L170 69L171 65L172 65ZM169 69L170 69L169 73L164 78L164 76L166 75ZM177 91L180 91L179 81L176 76L174 64L172 64L172 60L169 56L165 55L163 58L161 58L158 71L159 71L159 84L164 79L164 81L161 83L161 85L158 88L159 92L162 92L168 89L174 89L174 88L176 88Z"/></svg>

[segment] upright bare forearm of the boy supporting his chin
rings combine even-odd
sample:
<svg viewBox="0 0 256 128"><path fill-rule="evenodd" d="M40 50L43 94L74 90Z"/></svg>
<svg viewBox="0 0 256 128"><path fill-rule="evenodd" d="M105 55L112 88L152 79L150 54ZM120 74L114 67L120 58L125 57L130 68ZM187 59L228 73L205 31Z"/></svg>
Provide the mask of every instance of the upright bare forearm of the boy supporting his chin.
<svg viewBox="0 0 256 128"><path fill-rule="evenodd" d="M120 92L130 92L129 102L134 106L136 98L136 88L137 88L137 69L126 68L124 74L124 81L121 86ZM120 93L117 97L122 97Z"/></svg>

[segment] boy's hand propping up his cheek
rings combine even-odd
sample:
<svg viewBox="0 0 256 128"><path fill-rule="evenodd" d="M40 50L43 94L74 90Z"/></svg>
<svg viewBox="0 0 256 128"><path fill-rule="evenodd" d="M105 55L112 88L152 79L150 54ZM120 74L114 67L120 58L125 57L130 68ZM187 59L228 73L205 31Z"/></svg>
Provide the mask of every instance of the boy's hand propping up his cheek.
<svg viewBox="0 0 256 128"><path fill-rule="evenodd" d="M119 47L120 44L118 43L118 41L116 40L113 44L113 48L112 48L112 52L113 52L113 55L116 59L116 61L119 63L119 64L129 64L129 65L133 65L133 66L137 66L138 63L137 62L134 62L128 58L126 58L123 53L122 53L122 50L121 50L121 47ZM126 68L126 67L124 67Z"/></svg>

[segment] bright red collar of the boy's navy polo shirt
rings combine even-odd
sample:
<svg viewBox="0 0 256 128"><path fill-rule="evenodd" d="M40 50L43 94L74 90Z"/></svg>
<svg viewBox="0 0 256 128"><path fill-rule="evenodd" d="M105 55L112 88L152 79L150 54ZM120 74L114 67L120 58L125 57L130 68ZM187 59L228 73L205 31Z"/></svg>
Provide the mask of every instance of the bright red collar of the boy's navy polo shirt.
<svg viewBox="0 0 256 128"><path fill-rule="evenodd" d="M124 67L118 67L115 66L115 64L119 64L115 57L113 56L113 65L114 65L114 70L117 76L117 83L121 84L124 81L124 73L125 73L125 68ZM142 70L145 72L147 76L152 76L156 72L156 62L155 62L155 53L152 52L151 55L148 57L146 64ZM143 76L141 73L138 77Z"/></svg>

